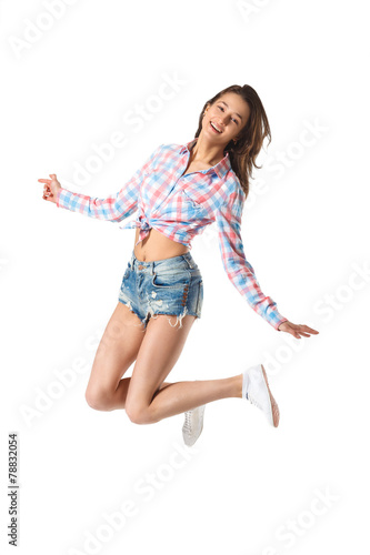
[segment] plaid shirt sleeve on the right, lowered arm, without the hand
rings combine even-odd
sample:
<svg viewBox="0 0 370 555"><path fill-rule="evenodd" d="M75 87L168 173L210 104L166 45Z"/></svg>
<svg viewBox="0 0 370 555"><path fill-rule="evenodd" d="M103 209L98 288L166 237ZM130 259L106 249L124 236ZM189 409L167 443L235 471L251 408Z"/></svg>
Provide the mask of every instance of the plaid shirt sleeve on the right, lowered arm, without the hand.
<svg viewBox="0 0 370 555"><path fill-rule="evenodd" d="M279 313L277 303L262 293L254 270L244 255L240 235L243 202L241 188L236 188L216 213L222 264L229 280L249 305L278 330L288 319Z"/></svg>

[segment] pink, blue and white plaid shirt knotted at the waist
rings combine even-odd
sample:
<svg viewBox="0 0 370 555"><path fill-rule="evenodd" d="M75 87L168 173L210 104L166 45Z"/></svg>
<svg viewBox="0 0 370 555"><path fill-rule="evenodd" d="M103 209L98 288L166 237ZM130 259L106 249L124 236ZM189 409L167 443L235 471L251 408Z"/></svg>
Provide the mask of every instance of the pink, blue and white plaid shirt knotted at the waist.
<svg viewBox="0 0 370 555"><path fill-rule="evenodd" d="M111 222L121 222L139 210L134 221L120 225L120 229L140 228L136 244L154 228L191 249L192 239L216 222L229 280L250 306L278 329L288 319L278 312L274 301L262 293L254 270L246 260L240 235L246 195L231 169L228 152L212 168L182 175L196 141L182 145L161 144L119 192L106 199L62 188L57 206Z"/></svg>

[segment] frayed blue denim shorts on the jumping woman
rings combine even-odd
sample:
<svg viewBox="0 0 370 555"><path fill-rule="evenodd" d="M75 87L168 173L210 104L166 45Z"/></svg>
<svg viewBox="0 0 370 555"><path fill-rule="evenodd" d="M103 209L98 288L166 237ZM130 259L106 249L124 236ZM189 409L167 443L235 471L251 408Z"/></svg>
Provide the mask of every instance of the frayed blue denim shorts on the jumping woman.
<svg viewBox="0 0 370 555"><path fill-rule="evenodd" d="M157 314L201 317L203 280L190 252L170 259L142 262L132 255L126 268L118 300L137 314L143 329Z"/></svg>

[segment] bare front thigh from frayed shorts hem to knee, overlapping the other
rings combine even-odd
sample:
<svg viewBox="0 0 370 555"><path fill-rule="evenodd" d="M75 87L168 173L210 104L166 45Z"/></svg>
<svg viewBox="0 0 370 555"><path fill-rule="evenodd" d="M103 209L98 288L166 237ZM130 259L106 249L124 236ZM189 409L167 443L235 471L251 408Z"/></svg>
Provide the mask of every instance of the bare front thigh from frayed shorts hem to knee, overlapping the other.
<svg viewBox="0 0 370 555"><path fill-rule="evenodd" d="M172 326L168 319L171 317ZM126 400L126 411L132 420L139 421L140 414L150 405L186 344L196 316L186 315L182 327L173 325L177 316L158 315L150 319L140 346Z"/></svg>

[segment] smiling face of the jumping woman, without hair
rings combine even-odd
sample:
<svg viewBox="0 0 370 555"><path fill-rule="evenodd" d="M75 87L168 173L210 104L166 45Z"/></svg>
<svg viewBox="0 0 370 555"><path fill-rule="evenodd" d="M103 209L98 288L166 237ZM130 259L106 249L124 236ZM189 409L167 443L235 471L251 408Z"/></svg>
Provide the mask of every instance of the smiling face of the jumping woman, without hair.
<svg viewBox="0 0 370 555"><path fill-rule="evenodd" d="M226 147L238 139L250 115L250 108L240 94L228 92L206 108L202 133L212 142Z"/></svg>

